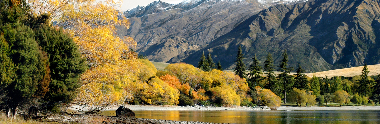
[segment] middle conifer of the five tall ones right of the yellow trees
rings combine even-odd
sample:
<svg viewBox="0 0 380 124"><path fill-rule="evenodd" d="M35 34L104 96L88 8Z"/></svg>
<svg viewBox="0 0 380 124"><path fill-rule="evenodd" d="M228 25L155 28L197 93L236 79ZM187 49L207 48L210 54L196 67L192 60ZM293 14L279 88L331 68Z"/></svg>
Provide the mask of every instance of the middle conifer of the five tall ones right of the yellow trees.
<svg viewBox="0 0 380 124"><path fill-rule="evenodd" d="M270 89L276 95L279 95L276 92L276 86L277 86L277 79L275 77L276 74L274 74L274 65L273 65L273 59L272 59L272 54L268 53L268 56L266 57L266 60L264 62L264 68L263 71L265 71L264 74L266 74L266 79L268 80L268 84L264 86L264 88Z"/></svg>

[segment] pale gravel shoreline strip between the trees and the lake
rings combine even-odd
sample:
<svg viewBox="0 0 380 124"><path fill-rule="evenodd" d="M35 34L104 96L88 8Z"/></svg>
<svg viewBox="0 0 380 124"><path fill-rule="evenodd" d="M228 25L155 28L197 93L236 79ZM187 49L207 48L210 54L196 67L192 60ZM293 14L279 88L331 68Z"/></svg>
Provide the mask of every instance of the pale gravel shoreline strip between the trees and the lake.
<svg viewBox="0 0 380 124"><path fill-rule="evenodd" d="M176 105L124 105L132 111L271 111L269 107L212 107L212 106L176 106ZM119 106L113 106L106 111L116 110ZM280 106L277 111L283 110L380 110L380 106L341 106L341 107L295 107Z"/></svg>

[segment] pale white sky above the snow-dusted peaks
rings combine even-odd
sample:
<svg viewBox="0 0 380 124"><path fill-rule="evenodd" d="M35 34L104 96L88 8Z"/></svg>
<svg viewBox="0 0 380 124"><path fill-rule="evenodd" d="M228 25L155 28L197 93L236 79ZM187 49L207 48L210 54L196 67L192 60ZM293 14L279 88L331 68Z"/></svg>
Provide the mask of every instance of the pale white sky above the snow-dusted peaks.
<svg viewBox="0 0 380 124"><path fill-rule="evenodd" d="M127 11L128 9L136 8L137 6L146 6L149 3L152 3L154 1L158 0L123 0L123 5L121 6L122 11ZM179 3L182 2L183 0L161 0L162 2L165 3Z"/></svg>

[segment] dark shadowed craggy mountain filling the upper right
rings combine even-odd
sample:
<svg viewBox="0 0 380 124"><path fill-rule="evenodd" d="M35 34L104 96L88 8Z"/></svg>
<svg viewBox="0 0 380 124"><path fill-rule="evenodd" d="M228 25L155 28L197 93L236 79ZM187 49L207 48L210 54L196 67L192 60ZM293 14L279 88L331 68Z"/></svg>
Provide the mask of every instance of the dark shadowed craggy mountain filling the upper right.
<svg viewBox="0 0 380 124"><path fill-rule="evenodd" d="M380 64L379 0L309 0L277 4L260 11L236 28L188 55L182 62L197 65L203 51L215 62L234 68L242 45L247 65L256 54L264 62L271 53L275 65L288 50L290 66L307 72Z"/></svg>

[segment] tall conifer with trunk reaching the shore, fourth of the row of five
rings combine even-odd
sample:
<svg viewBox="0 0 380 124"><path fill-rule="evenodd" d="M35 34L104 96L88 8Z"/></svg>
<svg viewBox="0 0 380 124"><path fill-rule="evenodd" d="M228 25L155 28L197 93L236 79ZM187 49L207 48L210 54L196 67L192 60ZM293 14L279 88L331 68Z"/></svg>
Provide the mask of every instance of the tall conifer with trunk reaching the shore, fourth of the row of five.
<svg viewBox="0 0 380 124"><path fill-rule="evenodd" d="M287 53L287 50L284 50L284 52L282 53L282 59L281 59L281 63L280 63L280 66L279 66L279 70L277 71L280 71L282 72L279 76L277 76L280 81L282 81L282 87L281 87L281 90L283 91L283 95L284 95L284 103L286 104L286 92L287 90L290 90L290 88L293 86L294 82L293 82L293 76L289 76L290 72L293 71L294 69L292 67L288 67L288 53Z"/></svg>

